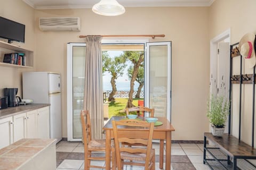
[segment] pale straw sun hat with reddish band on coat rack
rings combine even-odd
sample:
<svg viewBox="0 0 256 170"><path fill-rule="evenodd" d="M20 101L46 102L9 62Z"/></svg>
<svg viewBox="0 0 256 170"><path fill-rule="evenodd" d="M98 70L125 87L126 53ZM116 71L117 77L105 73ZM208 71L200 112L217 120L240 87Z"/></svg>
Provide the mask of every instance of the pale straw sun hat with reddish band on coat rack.
<svg viewBox="0 0 256 170"><path fill-rule="evenodd" d="M249 68L254 67L256 63L255 51L254 51L254 33L246 33L239 41L240 54L245 58L245 65Z"/></svg>

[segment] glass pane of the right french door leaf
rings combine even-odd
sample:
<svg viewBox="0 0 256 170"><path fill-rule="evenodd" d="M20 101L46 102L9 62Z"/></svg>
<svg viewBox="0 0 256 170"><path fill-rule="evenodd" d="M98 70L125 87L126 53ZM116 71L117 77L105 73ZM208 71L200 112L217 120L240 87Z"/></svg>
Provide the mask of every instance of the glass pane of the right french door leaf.
<svg viewBox="0 0 256 170"><path fill-rule="evenodd" d="M167 115L167 45L149 48L149 107L155 116Z"/></svg>

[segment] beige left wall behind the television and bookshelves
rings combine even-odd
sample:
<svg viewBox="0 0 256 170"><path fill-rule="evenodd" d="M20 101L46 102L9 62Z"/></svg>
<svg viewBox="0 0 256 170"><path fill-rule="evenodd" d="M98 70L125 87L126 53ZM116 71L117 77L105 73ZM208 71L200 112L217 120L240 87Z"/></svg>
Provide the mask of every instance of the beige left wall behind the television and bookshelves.
<svg viewBox="0 0 256 170"><path fill-rule="evenodd" d="M20 0L0 0L0 16L20 22L26 25L25 43L13 43L23 48L34 50L35 48L35 29L33 8ZM1 39L5 41L4 39ZM2 50L2 49L0 49ZM18 95L22 94L22 77L21 72L31 71L33 69L17 69L0 66L0 96L3 96L3 88L18 87Z"/></svg>

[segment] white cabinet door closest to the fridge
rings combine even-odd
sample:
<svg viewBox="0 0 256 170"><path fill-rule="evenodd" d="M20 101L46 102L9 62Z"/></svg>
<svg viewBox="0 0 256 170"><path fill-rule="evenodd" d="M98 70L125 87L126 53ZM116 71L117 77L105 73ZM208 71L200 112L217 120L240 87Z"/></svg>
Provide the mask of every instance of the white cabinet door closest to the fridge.
<svg viewBox="0 0 256 170"><path fill-rule="evenodd" d="M37 110L37 134L38 138L50 139L49 107Z"/></svg>

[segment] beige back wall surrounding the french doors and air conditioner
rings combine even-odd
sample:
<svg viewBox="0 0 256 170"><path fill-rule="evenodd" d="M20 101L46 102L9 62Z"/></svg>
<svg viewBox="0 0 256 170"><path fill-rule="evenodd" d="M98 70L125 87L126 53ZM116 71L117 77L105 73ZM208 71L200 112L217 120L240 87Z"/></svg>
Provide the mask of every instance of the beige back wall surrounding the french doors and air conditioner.
<svg viewBox="0 0 256 170"><path fill-rule="evenodd" d="M81 32L46 32L40 17L79 16ZM165 34L172 41L172 124L175 140L203 140L209 93L209 7L126 8L121 16L100 16L91 9L36 10L36 71L62 75L62 125L67 137L66 45L83 42L79 35ZM152 40L150 40L152 41Z"/></svg>

